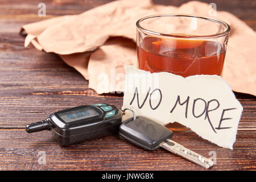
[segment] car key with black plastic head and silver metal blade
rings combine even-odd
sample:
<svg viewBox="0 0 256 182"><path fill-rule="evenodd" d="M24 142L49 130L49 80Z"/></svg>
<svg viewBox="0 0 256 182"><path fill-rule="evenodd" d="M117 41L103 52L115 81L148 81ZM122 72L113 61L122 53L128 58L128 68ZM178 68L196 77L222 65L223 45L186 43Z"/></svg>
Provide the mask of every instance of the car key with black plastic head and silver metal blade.
<svg viewBox="0 0 256 182"><path fill-rule="evenodd" d="M201 167L210 168L213 166L212 160L204 158L171 140L173 134L171 130L146 117L137 116L135 119L126 119L119 126L118 133L129 142L146 150L155 151L162 147Z"/></svg>

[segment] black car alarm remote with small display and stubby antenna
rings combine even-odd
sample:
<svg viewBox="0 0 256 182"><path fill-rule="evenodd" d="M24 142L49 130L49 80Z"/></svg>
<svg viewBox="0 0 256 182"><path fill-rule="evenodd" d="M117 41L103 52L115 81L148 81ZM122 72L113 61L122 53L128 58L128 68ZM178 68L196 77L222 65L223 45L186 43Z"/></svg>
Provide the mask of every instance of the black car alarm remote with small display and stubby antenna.
<svg viewBox="0 0 256 182"><path fill-rule="evenodd" d="M26 126L27 133L50 130L61 146L118 133L122 111L114 105L92 104L57 111Z"/></svg>

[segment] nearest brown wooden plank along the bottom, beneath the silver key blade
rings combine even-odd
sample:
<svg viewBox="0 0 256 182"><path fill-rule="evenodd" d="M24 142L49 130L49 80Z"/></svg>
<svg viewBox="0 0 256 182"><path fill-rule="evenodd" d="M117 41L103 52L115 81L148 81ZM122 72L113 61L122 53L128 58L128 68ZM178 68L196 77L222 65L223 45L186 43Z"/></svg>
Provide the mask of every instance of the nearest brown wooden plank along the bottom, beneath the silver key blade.
<svg viewBox="0 0 256 182"><path fill-rule="evenodd" d="M24 130L0 130L1 170L203 170L180 156L163 149L150 152L134 146L118 136L59 146L48 131L27 134ZM248 170L255 168L255 135L238 131L234 150L220 148L195 133L175 133L175 141L210 157L216 152L217 165L212 170ZM46 153L46 164L38 163L39 151ZM235 154L235 155L234 155Z"/></svg>

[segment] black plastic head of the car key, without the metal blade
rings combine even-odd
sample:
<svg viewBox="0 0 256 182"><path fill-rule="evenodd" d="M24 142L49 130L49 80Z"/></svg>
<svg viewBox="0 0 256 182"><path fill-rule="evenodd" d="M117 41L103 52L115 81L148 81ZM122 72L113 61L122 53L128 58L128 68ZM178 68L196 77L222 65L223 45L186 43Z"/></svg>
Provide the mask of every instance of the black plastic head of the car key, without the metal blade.
<svg viewBox="0 0 256 182"><path fill-rule="evenodd" d="M119 126L119 135L146 150L158 149L160 143L172 138L172 131L163 125L138 116L135 120L129 118Z"/></svg>

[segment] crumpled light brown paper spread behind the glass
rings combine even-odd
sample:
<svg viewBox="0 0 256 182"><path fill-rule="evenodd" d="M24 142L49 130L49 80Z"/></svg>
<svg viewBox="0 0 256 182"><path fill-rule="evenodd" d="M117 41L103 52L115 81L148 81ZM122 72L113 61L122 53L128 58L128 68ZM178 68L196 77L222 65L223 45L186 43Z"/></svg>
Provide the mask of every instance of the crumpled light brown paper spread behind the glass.
<svg viewBox="0 0 256 182"><path fill-rule="evenodd" d="M24 25L24 46L32 43L39 50L57 53L99 94L123 91L124 66L137 64L135 22L143 16L170 13L209 16L209 6L197 1L180 7L154 5L150 0L114 1L79 15ZM222 77L234 91L256 96L255 32L228 12L217 11L214 18L232 28Z"/></svg>

